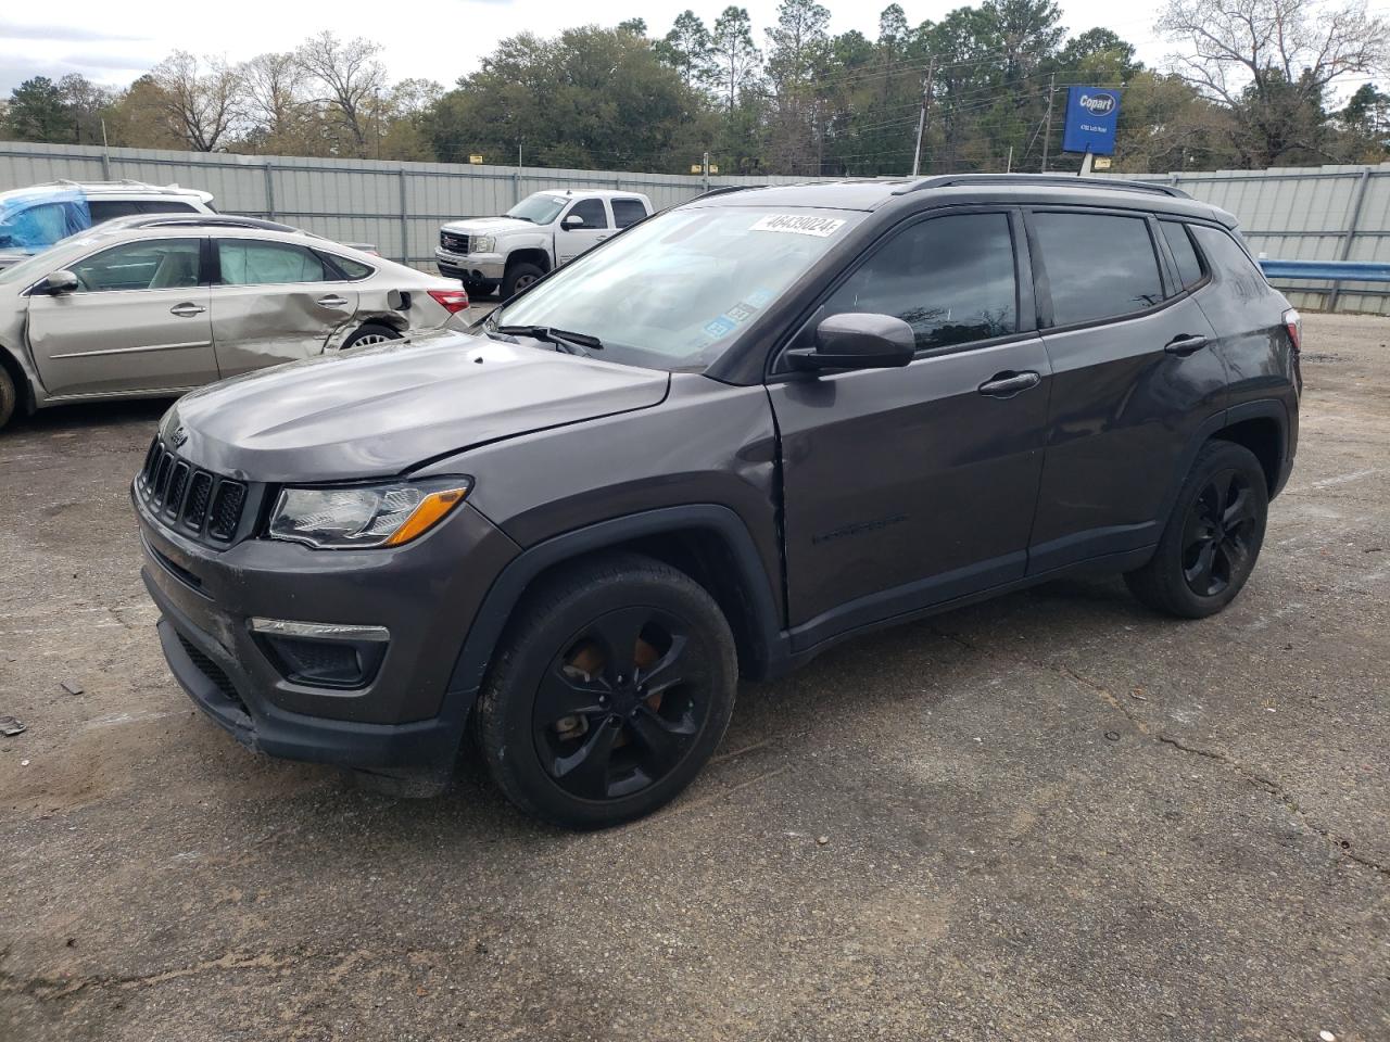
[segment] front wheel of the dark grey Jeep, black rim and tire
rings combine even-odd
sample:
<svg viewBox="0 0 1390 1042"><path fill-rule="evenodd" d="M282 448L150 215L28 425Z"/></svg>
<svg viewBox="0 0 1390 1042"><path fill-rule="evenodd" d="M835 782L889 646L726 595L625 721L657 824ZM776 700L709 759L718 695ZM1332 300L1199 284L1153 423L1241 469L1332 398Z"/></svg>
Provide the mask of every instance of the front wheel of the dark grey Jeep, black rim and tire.
<svg viewBox="0 0 1390 1042"><path fill-rule="evenodd" d="M600 554L527 595L484 682L477 741L520 809L606 828L699 774L737 684L734 636L703 586L649 557Z"/></svg>

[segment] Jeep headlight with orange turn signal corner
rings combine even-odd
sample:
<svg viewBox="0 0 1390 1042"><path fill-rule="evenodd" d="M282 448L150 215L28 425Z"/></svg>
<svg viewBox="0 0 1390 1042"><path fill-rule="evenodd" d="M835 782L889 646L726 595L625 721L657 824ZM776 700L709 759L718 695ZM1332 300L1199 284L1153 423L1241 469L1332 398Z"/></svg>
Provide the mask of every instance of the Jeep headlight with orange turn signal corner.
<svg viewBox="0 0 1390 1042"><path fill-rule="evenodd" d="M470 488L468 478L286 488L270 515L270 538L327 550L400 546L439 524Z"/></svg>

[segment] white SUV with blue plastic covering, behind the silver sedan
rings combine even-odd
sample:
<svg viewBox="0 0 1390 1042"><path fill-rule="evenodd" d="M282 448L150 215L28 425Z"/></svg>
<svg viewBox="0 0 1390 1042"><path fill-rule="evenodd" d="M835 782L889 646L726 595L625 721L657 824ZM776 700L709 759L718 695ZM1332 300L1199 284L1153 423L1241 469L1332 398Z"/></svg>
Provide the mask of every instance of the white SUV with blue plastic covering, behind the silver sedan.
<svg viewBox="0 0 1390 1042"><path fill-rule="evenodd" d="M50 181L0 192L0 268L115 217L213 213L210 192L143 181Z"/></svg>

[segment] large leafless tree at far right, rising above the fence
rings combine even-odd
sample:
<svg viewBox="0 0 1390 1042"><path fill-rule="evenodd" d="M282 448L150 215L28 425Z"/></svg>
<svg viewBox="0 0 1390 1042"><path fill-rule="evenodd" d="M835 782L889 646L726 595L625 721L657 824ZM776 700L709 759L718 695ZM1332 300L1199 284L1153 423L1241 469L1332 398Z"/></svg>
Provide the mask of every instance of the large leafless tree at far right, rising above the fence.
<svg viewBox="0 0 1390 1042"><path fill-rule="evenodd" d="M1236 117L1251 167L1327 156L1327 90L1390 56L1390 22L1365 0L1169 0L1156 28L1183 46L1169 56L1173 71Z"/></svg>

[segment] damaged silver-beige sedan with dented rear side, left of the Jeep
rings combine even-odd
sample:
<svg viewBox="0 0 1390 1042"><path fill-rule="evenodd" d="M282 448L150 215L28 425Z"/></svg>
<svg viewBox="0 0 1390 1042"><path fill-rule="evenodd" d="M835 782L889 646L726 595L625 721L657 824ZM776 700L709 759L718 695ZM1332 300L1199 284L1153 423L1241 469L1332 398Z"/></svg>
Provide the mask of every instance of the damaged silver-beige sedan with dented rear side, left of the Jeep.
<svg viewBox="0 0 1390 1042"><path fill-rule="evenodd" d="M468 324L457 282L288 225L135 217L0 271L0 428Z"/></svg>

